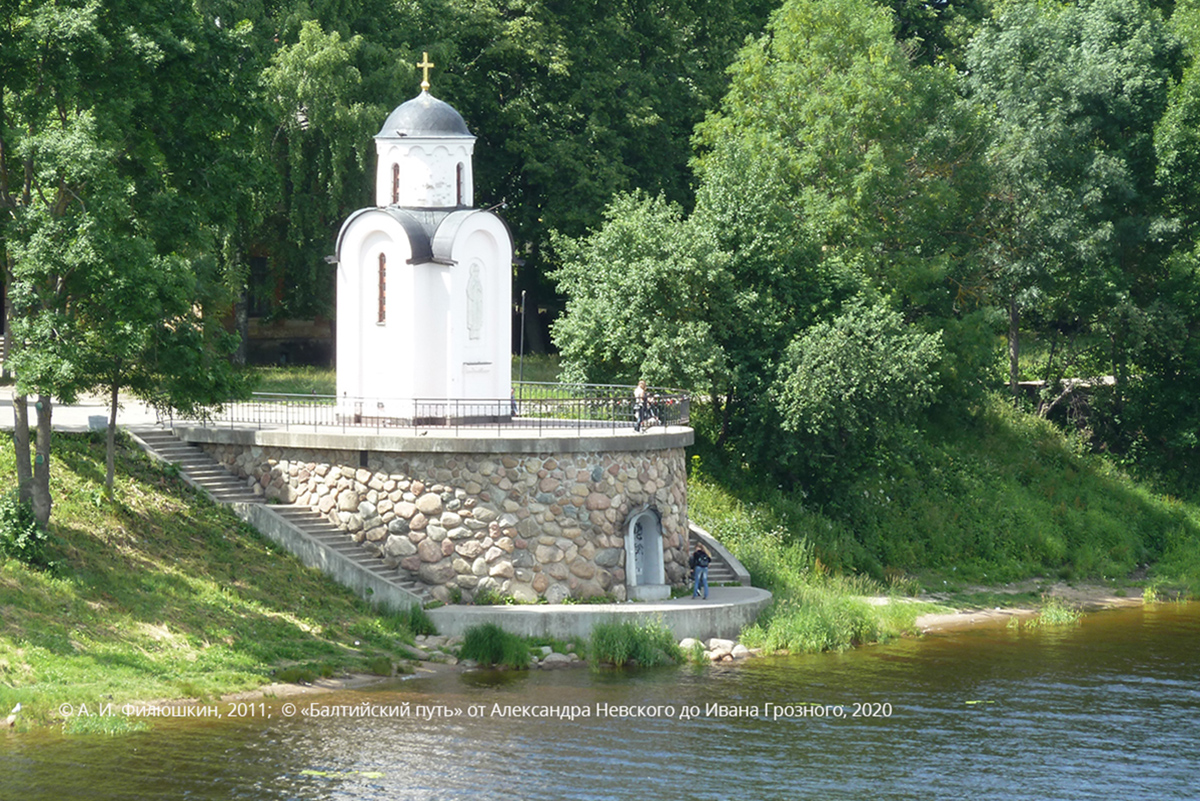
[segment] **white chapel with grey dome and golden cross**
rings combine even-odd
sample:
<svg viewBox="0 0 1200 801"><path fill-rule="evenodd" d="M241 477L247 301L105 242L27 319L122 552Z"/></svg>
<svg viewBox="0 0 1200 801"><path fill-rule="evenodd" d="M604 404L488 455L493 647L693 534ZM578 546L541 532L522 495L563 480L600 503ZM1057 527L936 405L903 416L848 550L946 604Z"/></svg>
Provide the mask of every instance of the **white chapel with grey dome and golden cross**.
<svg viewBox="0 0 1200 801"><path fill-rule="evenodd" d="M337 235L338 411L382 421L503 415L512 235L473 207L475 137L430 94L428 54L418 66L421 94L374 138L374 206Z"/></svg>

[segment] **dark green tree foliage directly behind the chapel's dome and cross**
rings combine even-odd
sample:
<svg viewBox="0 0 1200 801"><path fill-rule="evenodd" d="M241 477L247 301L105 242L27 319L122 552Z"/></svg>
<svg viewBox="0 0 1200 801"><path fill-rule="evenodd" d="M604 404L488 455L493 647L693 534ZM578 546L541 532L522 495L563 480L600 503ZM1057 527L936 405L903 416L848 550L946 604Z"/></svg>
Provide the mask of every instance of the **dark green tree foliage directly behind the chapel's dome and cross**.
<svg viewBox="0 0 1200 801"><path fill-rule="evenodd" d="M256 50L265 112L257 152L271 170L262 223L241 246L271 254L268 290L280 288L281 313L329 312L323 257L346 215L371 201L371 137L416 94L413 64L428 52L438 65L433 94L479 137L476 203L506 204L521 251L516 288L534 308L553 306L551 230L582 235L612 197L636 188L690 204L692 126L770 5L224 4L269 43Z"/></svg>

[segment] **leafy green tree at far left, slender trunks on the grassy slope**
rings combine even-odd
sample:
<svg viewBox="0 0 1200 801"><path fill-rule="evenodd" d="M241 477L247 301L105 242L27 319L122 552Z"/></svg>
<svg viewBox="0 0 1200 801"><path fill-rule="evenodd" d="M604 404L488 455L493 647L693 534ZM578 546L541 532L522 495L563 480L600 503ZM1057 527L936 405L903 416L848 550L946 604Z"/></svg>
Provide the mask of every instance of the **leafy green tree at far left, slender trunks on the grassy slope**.
<svg viewBox="0 0 1200 801"><path fill-rule="evenodd" d="M235 206L226 193L238 170L214 152L229 133L229 92L209 106L197 96L214 72L233 74L239 32L154 1L17 2L4 13L13 60L0 92L0 240L13 311L14 444L20 494L46 525L52 396L70 402L103 384L109 377L95 369L104 349L146 355L125 336L142 321L115 314L139 309L136 293L145 289L119 281L122 267L172 254L196 264L208 227ZM186 303L194 309L199 300ZM168 325L182 330L179 323ZM38 396L32 469L29 393Z"/></svg>

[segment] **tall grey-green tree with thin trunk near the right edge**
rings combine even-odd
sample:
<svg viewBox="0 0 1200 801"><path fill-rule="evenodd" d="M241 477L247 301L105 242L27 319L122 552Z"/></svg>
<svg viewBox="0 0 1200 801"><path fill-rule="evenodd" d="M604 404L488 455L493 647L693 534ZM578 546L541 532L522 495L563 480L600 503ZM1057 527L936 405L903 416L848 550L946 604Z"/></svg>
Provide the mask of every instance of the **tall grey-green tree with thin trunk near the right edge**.
<svg viewBox="0 0 1200 801"><path fill-rule="evenodd" d="M994 131L989 257L1014 396L1026 327L1045 337L1048 385L1072 369L1127 378L1129 320L1171 243L1153 131L1180 56L1136 0L1009 4L971 44L967 88Z"/></svg>

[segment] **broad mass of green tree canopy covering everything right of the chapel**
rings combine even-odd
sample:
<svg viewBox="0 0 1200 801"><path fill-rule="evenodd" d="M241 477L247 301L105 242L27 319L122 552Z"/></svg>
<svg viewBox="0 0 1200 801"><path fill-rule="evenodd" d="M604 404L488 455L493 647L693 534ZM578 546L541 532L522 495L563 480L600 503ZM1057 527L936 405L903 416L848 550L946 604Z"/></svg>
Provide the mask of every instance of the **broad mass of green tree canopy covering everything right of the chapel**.
<svg viewBox="0 0 1200 801"><path fill-rule="evenodd" d="M1002 375L1183 469L1194 4L953 4L953 35L950 5L785 2L696 128L691 212L622 198L560 246L572 374L724 399L719 439L806 486ZM676 332L694 363L656 356Z"/></svg>

